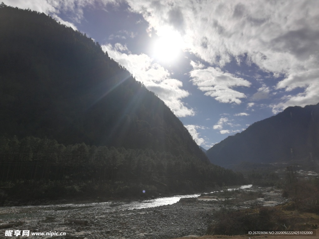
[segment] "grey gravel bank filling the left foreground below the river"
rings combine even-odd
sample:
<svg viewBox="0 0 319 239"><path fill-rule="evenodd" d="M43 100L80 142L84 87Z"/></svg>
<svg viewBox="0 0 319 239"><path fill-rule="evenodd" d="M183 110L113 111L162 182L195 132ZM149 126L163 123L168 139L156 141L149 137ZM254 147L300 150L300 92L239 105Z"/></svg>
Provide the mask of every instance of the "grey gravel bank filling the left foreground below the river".
<svg viewBox="0 0 319 239"><path fill-rule="evenodd" d="M14 214L17 207L12 207ZM66 236L37 236L36 238L172 238L185 235L205 235L208 221L211 218L210 207L202 205L175 203L145 209L99 211L96 208L27 211L16 210L21 226L10 230L30 230L31 232L65 232ZM30 210L30 209L29 209ZM37 210L33 207L31 210ZM5 216L6 214L1 215ZM9 214L7 214L8 216ZM72 223L72 219L76 219ZM12 220L0 220L0 224ZM79 222L86 224L81 224ZM0 238L5 236L0 229ZM30 238L30 237L21 237Z"/></svg>

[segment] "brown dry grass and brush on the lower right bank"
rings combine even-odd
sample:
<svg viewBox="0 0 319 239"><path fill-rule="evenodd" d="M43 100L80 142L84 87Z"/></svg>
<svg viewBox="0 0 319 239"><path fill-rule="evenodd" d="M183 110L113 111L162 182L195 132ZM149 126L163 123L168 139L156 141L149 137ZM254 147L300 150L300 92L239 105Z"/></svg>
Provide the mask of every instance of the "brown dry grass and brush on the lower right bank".
<svg viewBox="0 0 319 239"><path fill-rule="evenodd" d="M276 239L299 239L319 238L319 182L298 180L285 185L284 194L293 199L285 205L274 207L258 207L240 211L228 211L214 214L214 221L208 227L205 236L187 236L175 239L248 239L248 238L276 238ZM255 200L263 197L260 192L219 192L214 196L227 199L227 204L239 203L241 200ZM226 201L225 201L226 206ZM228 211L228 212L227 212ZM290 230L304 231L315 230L315 236L275 236L275 235L240 235L245 230ZM223 234L223 235L219 235Z"/></svg>

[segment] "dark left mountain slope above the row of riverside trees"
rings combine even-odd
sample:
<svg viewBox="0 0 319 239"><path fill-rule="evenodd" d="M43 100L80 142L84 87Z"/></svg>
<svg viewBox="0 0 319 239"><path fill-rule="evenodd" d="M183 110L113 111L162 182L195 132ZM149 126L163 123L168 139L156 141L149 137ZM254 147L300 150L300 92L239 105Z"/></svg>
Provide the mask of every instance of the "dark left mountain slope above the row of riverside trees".
<svg viewBox="0 0 319 239"><path fill-rule="evenodd" d="M85 34L0 5L0 134L152 149L208 162L153 92Z"/></svg>

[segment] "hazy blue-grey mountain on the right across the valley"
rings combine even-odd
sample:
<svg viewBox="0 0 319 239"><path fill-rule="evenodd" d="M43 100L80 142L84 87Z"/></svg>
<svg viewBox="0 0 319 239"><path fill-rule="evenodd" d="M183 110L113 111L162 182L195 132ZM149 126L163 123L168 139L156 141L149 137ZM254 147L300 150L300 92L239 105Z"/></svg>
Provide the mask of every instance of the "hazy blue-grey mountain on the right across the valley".
<svg viewBox="0 0 319 239"><path fill-rule="evenodd" d="M288 107L207 150L211 163L274 163L319 159L319 104Z"/></svg>

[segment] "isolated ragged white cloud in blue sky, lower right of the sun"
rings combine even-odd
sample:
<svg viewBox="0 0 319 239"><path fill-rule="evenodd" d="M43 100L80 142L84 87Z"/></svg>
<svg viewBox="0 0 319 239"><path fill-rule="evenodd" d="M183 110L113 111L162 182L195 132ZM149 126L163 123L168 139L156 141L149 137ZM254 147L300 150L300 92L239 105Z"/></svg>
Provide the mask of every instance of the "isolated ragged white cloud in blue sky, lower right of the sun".
<svg viewBox="0 0 319 239"><path fill-rule="evenodd" d="M244 93L232 88L238 86L249 87L250 82L223 72L219 68L208 67L201 69L201 65L191 62L193 70L190 72L192 82L198 89L205 92L206 96L211 96L222 103L240 104L241 98L246 98Z"/></svg>

